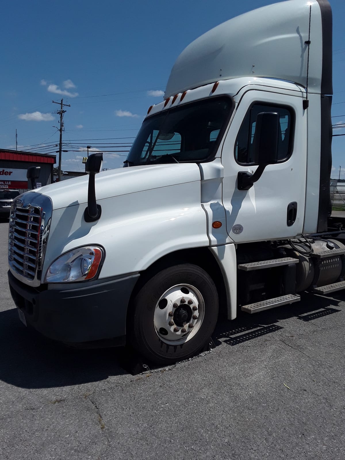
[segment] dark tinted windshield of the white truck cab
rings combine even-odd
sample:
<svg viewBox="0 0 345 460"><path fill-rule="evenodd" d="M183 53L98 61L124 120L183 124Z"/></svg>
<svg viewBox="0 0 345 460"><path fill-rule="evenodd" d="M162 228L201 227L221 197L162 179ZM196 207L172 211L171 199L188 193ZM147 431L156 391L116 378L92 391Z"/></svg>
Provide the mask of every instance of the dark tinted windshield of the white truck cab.
<svg viewBox="0 0 345 460"><path fill-rule="evenodd" d="M213 97L147 118L126 166L206 160L218 147L232 107L230 98Z"/></svg>

